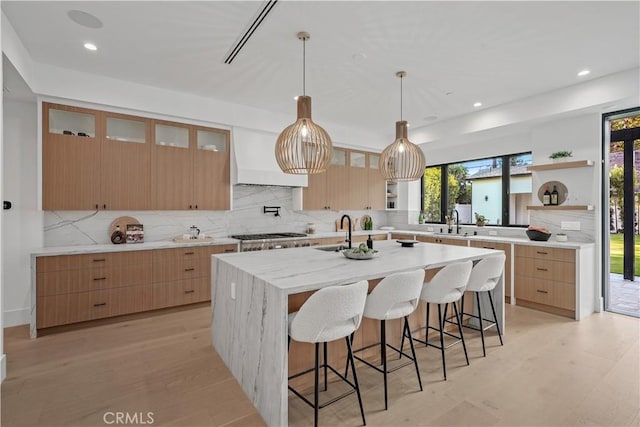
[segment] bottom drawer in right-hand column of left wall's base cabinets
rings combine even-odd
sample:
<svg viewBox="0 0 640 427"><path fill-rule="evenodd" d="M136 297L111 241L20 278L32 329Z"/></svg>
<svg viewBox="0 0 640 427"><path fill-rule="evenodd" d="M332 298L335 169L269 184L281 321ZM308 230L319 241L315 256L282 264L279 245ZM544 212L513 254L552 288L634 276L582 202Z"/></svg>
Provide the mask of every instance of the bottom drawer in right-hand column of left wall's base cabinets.
<svg viewBox="0 0 640 427"><path fill-rule="evenodd" d="M211 282L206 277L153 285L153 308L193 304L211 299Z"/></svg>

